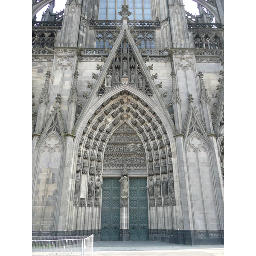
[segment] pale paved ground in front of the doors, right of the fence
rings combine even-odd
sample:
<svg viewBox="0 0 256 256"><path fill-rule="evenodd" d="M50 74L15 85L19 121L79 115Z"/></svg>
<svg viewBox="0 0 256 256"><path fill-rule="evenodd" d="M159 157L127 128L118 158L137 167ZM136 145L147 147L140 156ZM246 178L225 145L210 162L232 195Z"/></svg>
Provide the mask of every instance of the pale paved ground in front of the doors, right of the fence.
<svg viewBox="0 0 256 256"><path fill-rule="evenodd" d="M224 245L179 245L154 241L99 241L93 256L224 256Z"/></svg>

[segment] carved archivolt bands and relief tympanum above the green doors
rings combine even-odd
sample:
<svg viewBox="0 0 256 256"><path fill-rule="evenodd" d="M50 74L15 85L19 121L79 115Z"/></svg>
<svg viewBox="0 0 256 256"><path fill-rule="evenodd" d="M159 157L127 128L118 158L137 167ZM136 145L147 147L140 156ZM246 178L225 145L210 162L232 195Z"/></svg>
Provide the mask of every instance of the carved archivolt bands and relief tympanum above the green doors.
<svg viewBox="0 0 256 256"><path fill-rule="evenodd" d="M149 176L161 177L172 172L170 143L163 123L146 102L128 91L106 100L90 117L82 137L81 159L90 166L88 181L90 175L101 176L102 169L121 172L124 163L128 173L129 169L144 169Z"/></svg>

